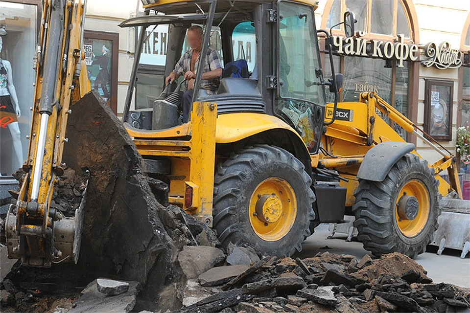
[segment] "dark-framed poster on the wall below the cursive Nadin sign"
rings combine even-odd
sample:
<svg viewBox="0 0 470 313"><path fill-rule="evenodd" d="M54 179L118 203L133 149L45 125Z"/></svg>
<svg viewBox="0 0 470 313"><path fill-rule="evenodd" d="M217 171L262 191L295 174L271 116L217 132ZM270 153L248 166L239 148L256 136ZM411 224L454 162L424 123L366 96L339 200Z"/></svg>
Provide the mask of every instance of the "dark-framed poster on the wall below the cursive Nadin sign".
<svg viewBox="0 0 470 313"><path fill-rule="evenodd" d="M452 140L453 82L426 80L425 131L437 140Z"/></svg>

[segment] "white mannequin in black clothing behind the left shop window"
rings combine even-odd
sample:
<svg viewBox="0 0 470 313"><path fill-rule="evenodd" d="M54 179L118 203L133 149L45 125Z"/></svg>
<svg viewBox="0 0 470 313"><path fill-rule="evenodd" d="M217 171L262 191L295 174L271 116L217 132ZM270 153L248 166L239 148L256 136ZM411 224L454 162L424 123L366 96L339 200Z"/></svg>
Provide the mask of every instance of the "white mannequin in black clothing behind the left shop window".
<svg viewBox="0 0 470 313"><path fill-rule="evenodd" d="M3 48L3 39L0 36L0 53ZM13 85L13 75L10 62L0 58L0 120L3 122L1 128L8 128L13 139L13 150L17 157L17 164L23 164L23 147L21 144L20 124L18 118L21 116L20 103ZM6 124L6 125L5 125ZM15 166L16 166L15 165Z"/></svg>

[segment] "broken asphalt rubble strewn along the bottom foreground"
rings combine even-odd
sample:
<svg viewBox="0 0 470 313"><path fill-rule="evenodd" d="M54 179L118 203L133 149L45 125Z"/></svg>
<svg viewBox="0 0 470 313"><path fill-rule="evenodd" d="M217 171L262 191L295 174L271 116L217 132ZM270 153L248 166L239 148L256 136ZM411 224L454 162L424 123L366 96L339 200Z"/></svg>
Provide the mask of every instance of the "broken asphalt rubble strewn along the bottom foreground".
<svg viewBox="0 0 470 313"><path fill-rule="evenodd" d="M362 262L359 268L361 260L329 252L303 260L263 257L251 265L230 265L225 251L216 250L208 246L183 249L180 262L190 260L184 266L194 268L184 270L187 283L177 291L182 297L181 308L163 310L155 306L145 308L145 312L425 313L470 308L470 290L432 283L423 267L400 253L375 260L366 257L368 265ZM241 251L251 253L251 249ZM138 282L97 279L81 292L46 295L5 279L0 294L2 312L141 312L143 309L136 311L135 306L139 291Z"/></svg>

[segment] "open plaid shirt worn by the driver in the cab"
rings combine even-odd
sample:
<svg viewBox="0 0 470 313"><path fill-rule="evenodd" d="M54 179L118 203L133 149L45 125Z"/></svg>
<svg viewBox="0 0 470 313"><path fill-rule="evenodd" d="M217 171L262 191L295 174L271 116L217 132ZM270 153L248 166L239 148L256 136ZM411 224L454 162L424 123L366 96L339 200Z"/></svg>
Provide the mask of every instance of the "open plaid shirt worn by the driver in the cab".
<svg viewBox="0 0 470 313"><path fill-rule="evenodd" d="M191 70L191 59L192 59L192 49L186 51L183 54L183 56L181 56L181 59L176 64L176 67L173 70L173 72L175 72L178 75L184 75L188 70ZM194 72L196 72L198 64L199 64L199 58L196 61L196 64L194 65ZM204 73L210 72L217 68L223 68L220 55L217 52L217 50L209 47L207 49L206 62L204 64ZM212 80L206 80L206 79L201 80L201 88L206 89L208 91L217 90L219 85L220 85L220 78L216 78Z"/></svg>

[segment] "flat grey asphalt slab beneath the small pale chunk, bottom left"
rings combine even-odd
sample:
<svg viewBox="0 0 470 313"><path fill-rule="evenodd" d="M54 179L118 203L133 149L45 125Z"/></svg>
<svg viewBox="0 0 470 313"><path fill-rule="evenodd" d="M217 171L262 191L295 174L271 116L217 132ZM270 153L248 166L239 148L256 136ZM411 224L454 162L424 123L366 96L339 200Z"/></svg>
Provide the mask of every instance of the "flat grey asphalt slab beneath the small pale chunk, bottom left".
<svg viewBox="0 0 470 313"><path fill-rule="evenodd" d="M138 282L128 283L129 289L126 292L110 297L98 291L94 280L82 291L68 313L130 312L136 304L141 285Z"/></svg>

